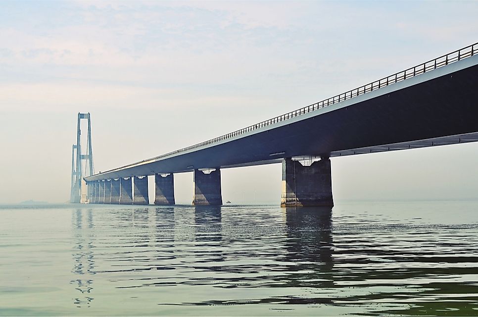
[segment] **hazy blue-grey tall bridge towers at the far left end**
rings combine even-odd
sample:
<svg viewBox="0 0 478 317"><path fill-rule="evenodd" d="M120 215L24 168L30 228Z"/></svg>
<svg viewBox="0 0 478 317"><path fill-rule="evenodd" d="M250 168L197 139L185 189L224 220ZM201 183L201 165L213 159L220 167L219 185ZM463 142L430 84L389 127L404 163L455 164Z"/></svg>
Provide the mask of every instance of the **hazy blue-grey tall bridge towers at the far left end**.
<svg viewBox="0 0 478 317"><path fill-rule="evenodd" d="M88 119L88 137L86 153L82 154L81 147L81 119ZM71 150L71 203L86 203L87 201L87 184L83 179L84 176L91 176L94 174L93 170L93 153L91 146L91 120L90 112L78 112L78 129L76 136L76 145L73 145ZM83 170L82 163L85 162Z"/></svg>

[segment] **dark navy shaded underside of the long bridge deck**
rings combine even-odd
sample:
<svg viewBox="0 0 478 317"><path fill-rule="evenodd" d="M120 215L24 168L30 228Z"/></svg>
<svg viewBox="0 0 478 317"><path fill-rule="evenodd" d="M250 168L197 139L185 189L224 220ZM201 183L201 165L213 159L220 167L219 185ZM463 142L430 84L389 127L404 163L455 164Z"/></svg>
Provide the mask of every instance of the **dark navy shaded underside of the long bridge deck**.
<svg viewBox="0 0 478 317"><path fill-rule="evenodd" d="M317 115L302 120L285 121L281 126L194 152L93 175L87 181L478 141L477 82L478 65L474 65L403 89L387 92L382 88L378 90L382 95L363 101L357 98L359 102L349 106L317 110Z"/></svg>

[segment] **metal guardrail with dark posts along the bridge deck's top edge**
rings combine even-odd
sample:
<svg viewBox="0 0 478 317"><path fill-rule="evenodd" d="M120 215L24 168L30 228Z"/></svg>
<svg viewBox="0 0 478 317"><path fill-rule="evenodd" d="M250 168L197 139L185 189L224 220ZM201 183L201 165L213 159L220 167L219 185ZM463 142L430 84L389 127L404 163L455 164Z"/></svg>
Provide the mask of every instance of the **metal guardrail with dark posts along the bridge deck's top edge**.
<svg viewBox="0 0 478 317"><path fill-rule="evenodd" d="M212 143L223 141L223 140L226 140L226 139L229 139L229 138L232 138L232 137L235 137L235 136L238 136L238 135L241 135L241 134L244 134L244 133L247 133L247 132L250 132L250 131L265 127L265 126L268 126L268 125L271 125L271 124L274 124L274 123L278 123L278 122L282 122L282 121L285 121L285 120L290 119L290 118L294 118L294 117L299 116L301 114L305 114L305 113L308 113L308 112L311 112L311 111L314 111L314 110L317 110L317 109L320 109L320 108L323 108L323 107L326 107L326 106L331 106L331 105L337 104L337 103L342 102L344 100L348 100L348 99L351 99L351 98L354 98L354 97L357 97L357 96L360 96L360 95L364 95L366 93L369 93L371 91L380 89L382 87L386 87L388 85L395 84L395 83L400 82L402 80L405 80L405 79L408 79L408 78L411 78L411 77L429 72L429 71L434 70L436 68L439 68L439 67L448 65L450 63L456 62L458 60L473 56L477 53L478 53L478 43L475 43L475 44L467 46L463 49L460 49L460 50L454 51L452 53L448 53L446 55L437 57L435 59L429 60L425 63L422 63L420 65L408 68L406 70L402 70L402 71L400 71L398 73L395 73L393 75L384 77L384 78L379 79L377 81L374 81L370 84L363 85L359 88L349 90L349 91L347 91L343 94L325 99L325 100L320 101L318 103L315 103L315 104L312 104L312 105L309 105L309 106L305 106L305 107L302 107L302 108L294 110L294 111L287 112L285 114L279 115L279 116L274 117L272 119L265 120L265 121L259 122L257 124L250 125L248 127L242 128L240 130L237 130L237 131L225 134L225 135L222 135L220 137L217 137L217 138L214 138L214 139L211 139L211 140L207 140L207 141L204 141L204 142L201 142L201 143L197 143L197 144L191 145L189 147L186 147L186 148L183 148L183 149L180 149L180 150L176 150L176 151L173 151L173 152L169 152L169 153L166 153L166 154L163 154L163 155L151 158L151 159L143 159L143 160L138 161L136 163L132 163L132 164L128 164L128 165L125 165L125 166L118 167L118 168L114 168L114 169L105 171L103 173L115 171L115 170L118 170L118 169L123 169L123 168L126 168L126 167L132 167L134 165L138 165L138 164L148 162L148 161L167 158L167 157L170 157L170 156L173 156L173 155L176 155L176 154L184 153L184 152L194 150L194 149L206 146L206 145L210 145Z"/></svg>

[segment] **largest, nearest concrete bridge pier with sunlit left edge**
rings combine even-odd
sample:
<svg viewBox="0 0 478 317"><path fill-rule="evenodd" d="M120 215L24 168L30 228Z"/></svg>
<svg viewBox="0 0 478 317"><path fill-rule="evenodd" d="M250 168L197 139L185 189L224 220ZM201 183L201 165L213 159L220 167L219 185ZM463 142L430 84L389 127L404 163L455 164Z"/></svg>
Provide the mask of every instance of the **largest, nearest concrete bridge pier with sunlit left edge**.
<svg viewBox="0 0 478 317"><path fill-rule="evenodd" d="M310 166L289 158L282 161L281 207L303 206L334 206L329 158Z"/></svg>

